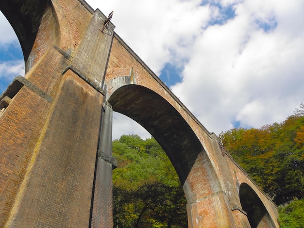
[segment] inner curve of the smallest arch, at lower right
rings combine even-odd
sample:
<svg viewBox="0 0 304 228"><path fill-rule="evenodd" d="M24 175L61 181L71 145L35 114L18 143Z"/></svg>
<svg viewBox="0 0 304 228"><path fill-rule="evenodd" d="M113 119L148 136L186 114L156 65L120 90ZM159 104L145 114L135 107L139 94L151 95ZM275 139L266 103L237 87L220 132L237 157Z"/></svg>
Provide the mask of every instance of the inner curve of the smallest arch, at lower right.
<svg viewBox="0 0 304 228"><path fill-rule="evenodd" d="M239 198L252 228L275 227L263 202L248 184L240 185Z"/></svg>

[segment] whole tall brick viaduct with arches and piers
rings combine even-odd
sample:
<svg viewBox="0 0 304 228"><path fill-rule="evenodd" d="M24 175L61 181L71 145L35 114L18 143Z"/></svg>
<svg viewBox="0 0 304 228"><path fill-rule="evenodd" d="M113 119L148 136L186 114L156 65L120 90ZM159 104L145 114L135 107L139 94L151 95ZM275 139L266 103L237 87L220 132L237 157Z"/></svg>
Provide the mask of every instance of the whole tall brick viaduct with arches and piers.
<svg viewBox="0 0 304 228"><path fill-rule="evenodd" d="M84 0L2 0L0 10L26 65L0 96L0 227L112 227L112 111L163 147L190 228L279 227L270 198L115 26L103 30L99 9Z"/></svg>

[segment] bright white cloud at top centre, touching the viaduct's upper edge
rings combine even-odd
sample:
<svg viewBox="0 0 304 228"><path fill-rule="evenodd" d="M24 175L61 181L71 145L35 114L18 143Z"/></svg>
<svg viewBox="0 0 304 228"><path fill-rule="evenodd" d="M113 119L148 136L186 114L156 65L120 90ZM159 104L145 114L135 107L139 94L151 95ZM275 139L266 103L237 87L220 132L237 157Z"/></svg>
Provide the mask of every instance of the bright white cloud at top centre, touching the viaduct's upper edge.
<svg viewBox="0 0 304 228"><path fill-rule="evenodd" d="M115 31L156 73L165 63L179 63L189 56L187 47L206 26L210 9L200 0L87 1L107 15L114 10Z"/></svg>

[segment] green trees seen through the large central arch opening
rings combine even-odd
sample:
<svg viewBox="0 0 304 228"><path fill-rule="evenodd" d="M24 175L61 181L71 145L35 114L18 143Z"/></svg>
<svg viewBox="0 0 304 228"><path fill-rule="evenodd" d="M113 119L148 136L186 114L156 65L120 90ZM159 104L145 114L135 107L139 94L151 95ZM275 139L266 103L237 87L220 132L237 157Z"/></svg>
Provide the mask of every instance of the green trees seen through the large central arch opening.
<svg viewBox="0 0 304 228"><path fill-rule="evenodd" d="M113 141L115 228L186 228L186 198L167 155L155 139L123 135Z"/></svg>

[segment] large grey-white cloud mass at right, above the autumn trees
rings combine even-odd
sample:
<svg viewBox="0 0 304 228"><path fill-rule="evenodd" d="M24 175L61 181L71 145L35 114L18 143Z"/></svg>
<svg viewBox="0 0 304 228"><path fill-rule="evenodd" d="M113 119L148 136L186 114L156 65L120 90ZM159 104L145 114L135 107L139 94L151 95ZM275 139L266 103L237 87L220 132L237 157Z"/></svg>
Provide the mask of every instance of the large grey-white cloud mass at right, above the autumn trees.
<svg viewBox="0 0 304 228"><path fill-rule="evenodd" d="M303 101L304 20L298 19L303 3L290 7L286 2L287 13L276 10L277 2L239 3L234 19L197 37L183 82L172 91L208 130L219 133L235 121L255 128L280 122ZM277 27L270 31L256 23L273 23L274 15ZM292 24L285 27L287 15L302 33Z"/></svg>

